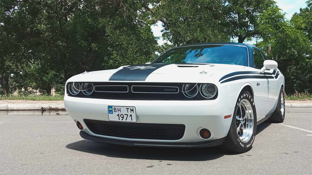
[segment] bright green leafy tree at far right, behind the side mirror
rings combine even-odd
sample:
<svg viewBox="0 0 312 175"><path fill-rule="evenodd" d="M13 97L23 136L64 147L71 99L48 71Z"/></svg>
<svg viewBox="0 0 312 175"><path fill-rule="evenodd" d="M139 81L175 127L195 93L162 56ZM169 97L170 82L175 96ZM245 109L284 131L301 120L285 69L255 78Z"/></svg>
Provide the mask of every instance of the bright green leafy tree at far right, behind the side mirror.
<svg viewBox="0 0 312 175"><path fill-rule="evenodd" d="M307 5L300 9L300 13L295 13L290 21L285 20L285 14L278 14L280 9L276 6L268 8L259 18L258 31L263 38L259 47L267 52L269 58L278 62L285 76L285 91L289 94L295 90L311 92L311 1Z"/></svg>

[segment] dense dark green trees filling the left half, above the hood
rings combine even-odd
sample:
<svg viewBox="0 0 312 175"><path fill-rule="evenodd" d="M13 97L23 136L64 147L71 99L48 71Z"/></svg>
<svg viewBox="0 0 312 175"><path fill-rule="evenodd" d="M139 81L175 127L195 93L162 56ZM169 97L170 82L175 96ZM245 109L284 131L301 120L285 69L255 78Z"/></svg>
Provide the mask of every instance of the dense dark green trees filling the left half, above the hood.
<svg viewBox="0 0 312 175"><path fill-rule="evenodd" d="M64 84L84 71L150 61L157 41L147 22L150 12L143 8L147 4L141 0L1 1L1 80L6 82L2 87L8 93L9 78L16 76L13 79L49 93L59 75ZM10 45L3 44L8 41ZM24 70L13 64L24 64Z"/></svg>

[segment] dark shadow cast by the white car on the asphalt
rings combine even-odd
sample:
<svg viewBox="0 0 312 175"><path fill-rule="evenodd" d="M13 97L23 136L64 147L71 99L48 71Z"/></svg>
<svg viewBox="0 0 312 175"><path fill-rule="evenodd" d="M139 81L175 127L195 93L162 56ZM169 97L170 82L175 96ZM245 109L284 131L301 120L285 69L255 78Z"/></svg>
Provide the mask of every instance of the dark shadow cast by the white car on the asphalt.
<svg viewBox="0 0 312 175"><path fill-rule="evenodd" d="M259 134L270 125L271 123L268 121L261 123L257 126L256 134ZM107 157L148 160L209 161L224 155L235 155L226 153L220 146L208 148L137 147L106 144L90 140L80 140L67 144L66 148Z"/></svg>

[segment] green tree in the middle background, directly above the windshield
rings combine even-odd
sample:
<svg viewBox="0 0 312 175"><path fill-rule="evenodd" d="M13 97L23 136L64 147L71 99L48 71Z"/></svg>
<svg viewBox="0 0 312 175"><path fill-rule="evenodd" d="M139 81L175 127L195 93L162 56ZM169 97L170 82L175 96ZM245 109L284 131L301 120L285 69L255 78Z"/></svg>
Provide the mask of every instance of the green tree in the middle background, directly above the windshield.
<svg viewBox="0 0 312 175"><path fill-rule="evenodd" d="M152 5L145 9L154 23L163 22L163 38L173 45L230 40L221 25L225 21L221 0L155 0Z"/></svg>

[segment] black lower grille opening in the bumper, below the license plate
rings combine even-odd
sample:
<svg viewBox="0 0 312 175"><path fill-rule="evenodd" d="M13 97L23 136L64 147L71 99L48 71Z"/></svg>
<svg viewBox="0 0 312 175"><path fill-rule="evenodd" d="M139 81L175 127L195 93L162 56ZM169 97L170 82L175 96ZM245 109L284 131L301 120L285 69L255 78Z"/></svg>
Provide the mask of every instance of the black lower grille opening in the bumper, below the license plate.
<svg viewBox="0 0 312 175"><path fill-rule="evenodd" d="M183 137L185 125L126 123L84 119L91 132L98 135L154 140L179 140Z"/></svg>

